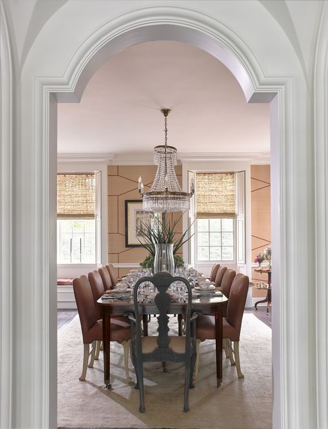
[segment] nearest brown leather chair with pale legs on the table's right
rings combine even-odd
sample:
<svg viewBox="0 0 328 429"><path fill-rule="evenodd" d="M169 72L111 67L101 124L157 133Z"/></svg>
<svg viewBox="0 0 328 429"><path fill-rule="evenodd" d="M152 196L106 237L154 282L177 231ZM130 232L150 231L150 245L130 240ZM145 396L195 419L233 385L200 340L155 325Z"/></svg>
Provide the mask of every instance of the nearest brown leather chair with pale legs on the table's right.
<svg viewBox="0 0 328 429"><path fill-rule="evenodd" d="M238 378L244 378L240 369L239 360L239 337L242 328L242 318L247 298L249 279L247 275L236 275L231 285L226 318L223 321L223 338L228 341L228 357L231 365L236 365ZM199 365L199 343L204 340L215 339L214 316L201 315L197 318L197 361L195 365L194 378L197 377ZM233 342L233 346L232 346ZM226 348L226 347L225 347ZM235 355L235 359L233 358Z"/></svg>

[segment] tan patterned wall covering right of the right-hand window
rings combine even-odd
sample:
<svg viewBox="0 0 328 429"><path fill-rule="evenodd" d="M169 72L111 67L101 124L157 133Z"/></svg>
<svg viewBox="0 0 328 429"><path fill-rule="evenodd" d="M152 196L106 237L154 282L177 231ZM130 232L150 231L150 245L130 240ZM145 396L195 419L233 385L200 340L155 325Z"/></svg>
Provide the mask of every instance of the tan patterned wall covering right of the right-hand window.
<svg viewBox="0 0 328 429"><path fill-rule="evenodd" d="M270 165L251 165L252 261L271 243ZM267 282L268 275L253 271L253 282ZM253 288L253 297L266 296L266 291Z"/></svg>

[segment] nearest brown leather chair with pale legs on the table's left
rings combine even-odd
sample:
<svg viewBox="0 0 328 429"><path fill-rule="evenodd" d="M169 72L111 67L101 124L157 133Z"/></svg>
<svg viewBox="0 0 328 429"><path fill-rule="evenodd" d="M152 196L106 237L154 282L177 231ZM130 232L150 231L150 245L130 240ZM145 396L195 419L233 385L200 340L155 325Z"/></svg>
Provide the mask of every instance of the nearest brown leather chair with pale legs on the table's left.
<svg viewBox="0 0 328 429"><path fill-rule="evenodd" d="M88 367L93 367L93 361L95 359L95 343L96 341L102 341L102 320L97 320L91 285L85 275L76 277L73 280L73 291L76 305L78 307L84 344L83 368L79 379L80 381L84 381L86 369ZM131 342L128 322L116 320L114 318L111 319L111 341L117 341L117 343L122 344L124 348L127 381L131 381L128 367L129 345ZM92 344L91 351L89 350L90 344ZM89 356L91 356L91 358L88 365Z"/></svg>

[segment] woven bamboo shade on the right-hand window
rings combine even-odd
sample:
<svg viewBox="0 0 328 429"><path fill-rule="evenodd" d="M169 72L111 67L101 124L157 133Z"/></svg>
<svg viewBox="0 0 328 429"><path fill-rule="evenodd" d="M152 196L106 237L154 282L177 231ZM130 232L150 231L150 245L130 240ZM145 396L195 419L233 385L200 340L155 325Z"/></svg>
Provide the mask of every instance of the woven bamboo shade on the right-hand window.
<svg viewBox="0 0 328 429"><path fill-rule="evenodd" d="M197 173L197 218L236 216L235 173Z"/></svg>

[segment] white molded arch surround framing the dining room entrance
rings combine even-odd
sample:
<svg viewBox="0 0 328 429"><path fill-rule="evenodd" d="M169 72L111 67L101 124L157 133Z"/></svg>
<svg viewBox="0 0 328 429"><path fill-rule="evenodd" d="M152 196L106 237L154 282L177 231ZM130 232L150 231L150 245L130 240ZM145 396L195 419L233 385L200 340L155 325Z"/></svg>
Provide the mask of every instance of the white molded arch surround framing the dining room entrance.
<svg viewBox="0 0 328 429"><path fill-rule="evenodd" d="M217 57L233 72L241 84L246 100L270 102L271 100L271 165L272 165L272 247L273 247L273 424L274 428L301 428L315 426L313 416L310 415L309 398L313 396L313 386L308 391L302 391L302 383L307 385L309 374L309 361L313 359L313 349L309 336L298 341L298 322L300 318L297 306L286 311L287 300L291 302L295 290L306 291L307 285L298 284L295 267L286 270L286 255L292 253L300 256L300 264L304 255L298 248L298 230L284 226L286 221L293 223L293 215L298 208L302 208L302 201L292 198L293 186L298 181L302 187L304 179L298 177L298 161L304 163L302 146L298 152L294 149L296 140L293 127L293 105L297 104L297 96L293 91L292 77L265 76L259 62L250 48L242 42L233 31L219 21L199 12L180 10L179 8L149 8L136 10L110 20L107 24L99 26L84 43L75 50L73 57L67 64L64 76L47 76L35 78L33 93L35 96L34 120L35 134L33 134L33 156L37 165L42 165L42 172L35 174L35 183L31 191L34 197L35 209L42 225L41 230L35 230L35 243L39 248L33 248L35 261L42 260L42 267L36 268L35 275L35 307L40 305L43 309L37 315L37 322L44 327L42 336L37 331L35 323L35 349L32 359L35 368L42 370L37 373L34 369L34 380L37 386L33 390L33 415L30 415L29 403L21 403L22 413L29 419L31 426L42 428L56 427L56 297L55 297L55 175L56 175L56 103L69 101L75 97L80 98L83 88L92 73L98 69L102 62L109 59L116 52L140 42L150 40L176 40L192 44ZM300 89L299 89L300 92ZM300 109L303 107L300 106ZM302 111L302 115L305 113ZM298 124L299 125L299 124ZM302 134L302 129L298 131ZM296 134L298 137L298 134ZM301 138L304 138L301 137ZM291 147L287 147L286 142ZM289 149L287 151L287 149ZM304 150L304 149L303 149ZM23 152L23 151L22 151ZM296 157L296 152L300 158ZM24 154L24 152L23 152ZM302 167L300 163L300 168ZM288 173L288 174L287 174ZM288 179L287 179L288 176ZM39 181L38 181L39 179ZM42 190L39 190L42 183ZM285 184L288 183L288 188ZM311 185L311 183L310 183ZM34 193L33 193L34 192ZM308 192L306 187L302 192ZM295 200L295 201L294 201ZM302 226L302 219L298 229ZM304 222L307 218L304 219ZM287 252L288 250L288 252ZM303 258L303 259L302 259ZM299 264L299 265L300 265ZM310 263L311 264L311 263ZM306 268L305 268L306 270ZM309 278L308 271L301 271L304 278ZM34 274L33 274L34 275ZM32 276L33 276L32 275ZM289 289L286 289L287 280ZM306 292L304 292L304 296ZM309 313L302 316L304 324L312 328L312 303L309 302ZM314 356L315 357L315 356ZM295 365L297 363L297 365ZM302 378L302 371L306 371ZM316 368L313 368L316 372ZM1 396L2 397L2 396ZM1 399L2 401L2 399ZM32 401L32 400L31 400ZM287 407L288 403L288 407ZM303 407L300 412L300 403ZM312 407L313 408L313 407ZM300 425L300 415L304 417ZM21 418L23 419L23 417ZM18 423L21 423L18 422ZM18 425L17 425L18 426Z"/></svg>

